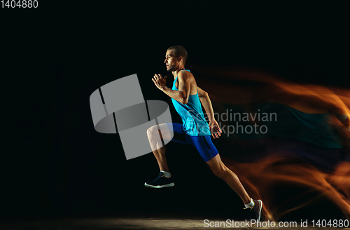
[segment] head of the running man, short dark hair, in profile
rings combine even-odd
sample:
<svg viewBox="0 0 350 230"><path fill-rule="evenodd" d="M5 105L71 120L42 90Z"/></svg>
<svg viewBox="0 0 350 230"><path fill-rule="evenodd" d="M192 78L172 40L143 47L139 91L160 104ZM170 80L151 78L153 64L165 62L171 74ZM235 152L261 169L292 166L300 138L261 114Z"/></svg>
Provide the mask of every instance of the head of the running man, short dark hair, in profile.
<svg viewBox="0 0 350 230"><path fill-rule="evenodd" d="M187 59L187 51L182 46L172 46L167 49L165 54L165 64L167 65L167 71L173 72L176 69L185 68L185 62Z"/></svg>

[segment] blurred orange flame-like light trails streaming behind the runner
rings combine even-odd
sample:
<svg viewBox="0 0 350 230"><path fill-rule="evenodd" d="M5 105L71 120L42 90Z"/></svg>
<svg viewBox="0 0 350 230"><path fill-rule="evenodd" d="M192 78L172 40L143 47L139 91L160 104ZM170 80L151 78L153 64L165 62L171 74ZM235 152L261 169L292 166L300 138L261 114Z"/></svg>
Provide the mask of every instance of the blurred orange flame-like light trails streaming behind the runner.
<svg viewBox="0 0 350 230"><path fill-rule="evenodd" d="M307 114L330 114L328 122L337 130L344 149L350 147L350 90L291 83L272 74L246 69L218 70L195 66L191 69L198 73L197 84L209 93L214 102L214 110L220 109L221 104L277 102ZM200 74L212 77L198 76ZM339 114L345 119L340 120ZM328 198L344 212L346 217L350 217L349 161L337 163L333 170L325 172L312 162L291 161L288 154L282 153L281 149L265 151L268 151L268 156L257 161L251 159L253 162L249 163L238 163L228 156L222 158L225 165L237 173L248 194L262 198L268 219L278 220L286 213L313 202L311 199L302 205L280 212L279 208L272 207L269 196L271 188L279 183L317 191L319 196ZM286 151L293 150L286 149Z"/></svg>

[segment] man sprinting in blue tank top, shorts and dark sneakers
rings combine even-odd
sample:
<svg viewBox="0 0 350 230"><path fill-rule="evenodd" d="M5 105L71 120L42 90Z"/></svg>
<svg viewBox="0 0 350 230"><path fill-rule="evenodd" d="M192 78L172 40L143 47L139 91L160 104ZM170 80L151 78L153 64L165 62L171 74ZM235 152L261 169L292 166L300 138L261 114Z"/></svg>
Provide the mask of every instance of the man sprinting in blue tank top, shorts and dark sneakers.
<svg viewBox="0 0 350 230"><path fill-rule="evenodd" d="M153 149L153 154L158 161L160 174L157 179L146 182L145 186L149 188L173 187L175 184L172 175L169 172L167 159L165 158L165 146L162 145L161 137L164 140L172 140L179 143L189 143L197 148L204 161L214 175L223 179L228 185L241 197L244 202L245 209L250 209L249 216L251 219L260 220L262 209L262 201L253 200L248 196L243 185L239 181L235 172L232 172L221 161L218 150L211 142L212 135L214 138L221 136L222 130L218 126L218 122L214 118L214 111L211 100L207 92L197 86L193 74L185 69L187 52L182 46L172 46L167 49L165 55L165 64L167 71L174 75L174 83L172 88L165 86L167 76L164 78L160 74L155 74L153 82L158 89L162 90L169 97L176 111L181 116L183 124L164 123L158 126L152 126L147 130L148 140ZM202 105L207 112L209 125L204 119ZM160 132L162 130L162 132ZM165 130L168 130L165 131ZM169 133L174 133L173 139ZM161 134L161 135L160 135ZM158 138L156 138L158 137Z"/></svg>

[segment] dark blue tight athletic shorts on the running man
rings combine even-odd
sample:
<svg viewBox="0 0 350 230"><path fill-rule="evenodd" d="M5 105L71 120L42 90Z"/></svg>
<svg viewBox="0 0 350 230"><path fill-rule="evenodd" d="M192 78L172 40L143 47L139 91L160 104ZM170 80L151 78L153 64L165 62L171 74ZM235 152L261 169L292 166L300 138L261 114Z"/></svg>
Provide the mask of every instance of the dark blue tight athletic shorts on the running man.
<svg viewBox="0 0 350 230"><path fill-rule="evenodd" d="M200 152L205 162L210 161L214 156L218 155L218 149L211 142L210 135L207 136L190 136L183 132L182 124L179 123L166 123L169 130L172 130L174 137L173 142L181 144L192 144Z"/></svg>

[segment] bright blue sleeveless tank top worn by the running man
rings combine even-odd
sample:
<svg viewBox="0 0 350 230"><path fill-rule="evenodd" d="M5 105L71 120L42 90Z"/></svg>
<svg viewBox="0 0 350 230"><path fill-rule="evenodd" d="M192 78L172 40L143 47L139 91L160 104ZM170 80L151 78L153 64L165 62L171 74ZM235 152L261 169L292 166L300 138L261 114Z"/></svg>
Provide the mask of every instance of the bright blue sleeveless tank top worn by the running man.
<svg viewBox="0 0 350 230"><path fill-rule="evenodd" d="M188 72L190 70L186 69ZM174 80L172 90L179 90L176 88L176 79ZM205 136L210 135L210 129L207 121L204 119L204 114L202 111L202 105L200 102L200 97L197 94L190 95L188 97L187 104L181 104L180 102L172 98L172 102L178 114L181 116L183 123L183 131L190 136Z"/></svg>

